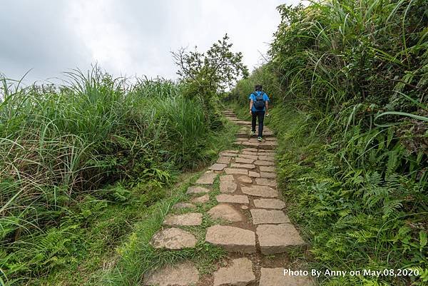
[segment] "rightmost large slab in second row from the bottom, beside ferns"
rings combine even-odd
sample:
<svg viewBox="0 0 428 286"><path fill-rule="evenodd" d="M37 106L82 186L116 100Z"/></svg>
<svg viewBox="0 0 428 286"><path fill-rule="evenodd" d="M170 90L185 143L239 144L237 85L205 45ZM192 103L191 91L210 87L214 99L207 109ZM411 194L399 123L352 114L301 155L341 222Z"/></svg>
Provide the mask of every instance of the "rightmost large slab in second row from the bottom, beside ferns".
<svg viewBox="0 0 428 286"><path fill-rule="evenodd" d="M265 255L286 252L293 246L305 245L305 241L291 223L258 225L256 233L260 250Z"/></svg>

